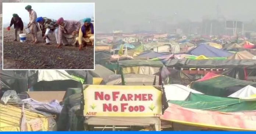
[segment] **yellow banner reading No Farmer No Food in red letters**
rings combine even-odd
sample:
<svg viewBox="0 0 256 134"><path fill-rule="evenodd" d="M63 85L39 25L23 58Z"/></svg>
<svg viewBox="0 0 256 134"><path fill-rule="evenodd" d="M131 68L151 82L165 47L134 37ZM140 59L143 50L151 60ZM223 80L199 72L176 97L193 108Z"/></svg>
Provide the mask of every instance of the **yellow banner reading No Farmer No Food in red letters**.
<svg viewBox="0 0 256 134"><path fill-rule="evenodd" d="M158 117L162 92L153 86L89 85L83 90L84 116Z"/></svg>

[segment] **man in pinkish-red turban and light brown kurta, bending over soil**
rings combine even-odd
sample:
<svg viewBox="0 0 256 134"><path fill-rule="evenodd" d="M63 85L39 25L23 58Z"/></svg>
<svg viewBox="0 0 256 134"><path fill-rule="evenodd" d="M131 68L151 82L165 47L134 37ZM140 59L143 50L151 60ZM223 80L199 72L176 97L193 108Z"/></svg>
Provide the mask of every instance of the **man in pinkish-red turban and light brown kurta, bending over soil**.
<svg viewBox="0 0 256 134"><path fill-rule="evenodd" d="M57 20L58 28L58 43L57 47L67 46L68 40L71 39L71 45L76 46L76 37L78 36L78 31L81 26L79 21L64 20L62 17Z"/></svg>

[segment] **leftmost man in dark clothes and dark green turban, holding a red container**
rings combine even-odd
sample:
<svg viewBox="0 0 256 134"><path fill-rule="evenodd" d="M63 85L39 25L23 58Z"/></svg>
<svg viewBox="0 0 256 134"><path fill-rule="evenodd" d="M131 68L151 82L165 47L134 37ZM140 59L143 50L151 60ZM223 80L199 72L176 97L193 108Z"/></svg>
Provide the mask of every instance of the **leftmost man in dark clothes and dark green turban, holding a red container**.
<svg viewBox="0 0 256 134"><path fill-rule="evenodd" d="M11 26L14 25L15 29L15 36L13 41L17 41L17 33L19 30L19 33L23 33L23 22L18 14L13 14L13 18L11 18L10 26L8 26L8 29L11 28Z"/></svg>

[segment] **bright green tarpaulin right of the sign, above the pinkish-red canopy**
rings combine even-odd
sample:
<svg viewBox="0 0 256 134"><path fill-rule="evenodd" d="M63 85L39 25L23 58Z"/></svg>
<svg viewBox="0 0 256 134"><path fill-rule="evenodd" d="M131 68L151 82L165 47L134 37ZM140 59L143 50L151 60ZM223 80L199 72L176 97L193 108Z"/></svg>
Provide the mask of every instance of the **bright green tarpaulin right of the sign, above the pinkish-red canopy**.
<svg viewBox="0 0 256 134"><path fill-rule="evenodd" d="M184 108L219 112L241 112L256 110L256 101L244 101L238 98L216 97L191 93L186 101L168 101Z"/></svg>

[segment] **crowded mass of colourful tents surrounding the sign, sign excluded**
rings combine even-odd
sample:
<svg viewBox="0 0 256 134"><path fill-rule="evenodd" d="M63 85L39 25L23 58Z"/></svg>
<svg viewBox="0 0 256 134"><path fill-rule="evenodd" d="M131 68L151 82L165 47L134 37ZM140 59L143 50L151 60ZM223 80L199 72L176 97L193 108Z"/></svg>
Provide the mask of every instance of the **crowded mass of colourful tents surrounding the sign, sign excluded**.
<svg viewBox="0 0 256 134"><path fill-rule="evenodd" d="M173 130L256 130L253 41L220 37L176 39L154 34L132 35L138 41L125 43L122 39L127 36L97 36L100 39L95 46L95 70L3 70L0 96L6 101L1 101L0 106L13 103L8 98L13 94L19 98L15 103L26 102L27 110L45 112L41 113L45 114L42 118L48 117L46 113L58 115L54 119L56 130L81 131L83 84L159 85L166 98L161 120L172 124ZM198 73L188 73L186 69ZM58 105L56 100L21 98L24 92L29 95L33 91L64 91L65 95ZM45 105L49 108L43 109Z"/></svg>

